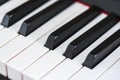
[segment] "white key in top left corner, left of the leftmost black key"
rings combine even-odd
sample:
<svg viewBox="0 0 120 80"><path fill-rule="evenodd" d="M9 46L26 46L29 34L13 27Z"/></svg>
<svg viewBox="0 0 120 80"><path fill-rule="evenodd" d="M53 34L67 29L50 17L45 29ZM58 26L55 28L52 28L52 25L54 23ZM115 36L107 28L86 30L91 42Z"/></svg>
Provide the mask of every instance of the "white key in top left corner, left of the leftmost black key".
<svg viewBox="0 0 120 80"><path fill-rule="evenodd" d="M3 20L4 15L13 10L14 8L22 5L23 3L27 2L28 0L10 0L7 3L0 6L0 23ZM12 6L11 6L12 5Z"/></svg>

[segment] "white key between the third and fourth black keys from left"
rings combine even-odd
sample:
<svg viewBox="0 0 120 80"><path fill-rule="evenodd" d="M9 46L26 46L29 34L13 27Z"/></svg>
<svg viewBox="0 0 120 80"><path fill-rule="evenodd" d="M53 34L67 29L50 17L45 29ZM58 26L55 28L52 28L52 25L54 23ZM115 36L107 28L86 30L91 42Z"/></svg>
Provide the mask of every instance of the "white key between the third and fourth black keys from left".
<svg viewBox="0 0 120 80"><path fill-rule="evenodd" d="M33 63L30 67L28 67L26 70L24 70L23 71L23 79L24 80L30 80L30 79L40 80L46 74L48 74L51 70L53 70L56 66L59 66L59 64L65 59L65 57L62 56L62 54L64 53L67 45L72 40L74 40L76 37L78 37L79 34L82 34L85 30L87 30L90 27L92 27L92 25L91 26L90 25L86 26L86 29L82 29L82 31L80 31L80 32L76 33L75 35L73 35L70 39L68 39L67 41L65 41L63 44L61 44L55 50L51 50L44 57L40 58L37 62ZM56 59L56 57L57 57L57 59ZM46 62L44 63L43 61L46 61ZM70 61L71 60L69 60L69 62ZM34 75L32 75L32 74L34 74Z"/></svg>

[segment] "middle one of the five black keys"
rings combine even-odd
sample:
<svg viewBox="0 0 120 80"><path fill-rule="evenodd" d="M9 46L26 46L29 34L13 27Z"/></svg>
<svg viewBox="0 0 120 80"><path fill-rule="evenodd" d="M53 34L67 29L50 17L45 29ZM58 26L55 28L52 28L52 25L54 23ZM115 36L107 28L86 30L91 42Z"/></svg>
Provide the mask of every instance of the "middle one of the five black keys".
<svg viewBox="0 0 120 80"><path fill-rule="evenodd" d="M88 24L92 19L98 16L101 13L101 9L97 7L92 7L83 14L79 15L69 23L65 24L52 34L47 39L45 44L49 49L55 49L65 40L67 40L70 36L76 33L78 30L83 28L86 24Z"/></svg>

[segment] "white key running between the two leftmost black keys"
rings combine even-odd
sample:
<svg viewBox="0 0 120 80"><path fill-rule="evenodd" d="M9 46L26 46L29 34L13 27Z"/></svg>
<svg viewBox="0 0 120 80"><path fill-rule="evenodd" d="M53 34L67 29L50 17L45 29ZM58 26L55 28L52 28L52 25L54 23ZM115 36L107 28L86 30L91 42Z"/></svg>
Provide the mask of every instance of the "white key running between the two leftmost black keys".
<svg viewBox="0 0 120 80"><path fill-rule="evenodd" d="M0 31L0 37L2 37L0 39L0 47L5 46L8 42L10 42L11 40L13 40L14 38L19 36L19 34L17 32L19 31L23 21L25 21L26 19L28 19L31 16L35 15L39 11L45 9L47 6L53 4L54 2L56 2L56 1L54 0L54 1L47 2L46 4L41 6L40 8L33 11L31 14L27 15L26 17L24 17L20 21L16 22L14 25L10 26L10 28L5 28L2 31Z"/></svg>

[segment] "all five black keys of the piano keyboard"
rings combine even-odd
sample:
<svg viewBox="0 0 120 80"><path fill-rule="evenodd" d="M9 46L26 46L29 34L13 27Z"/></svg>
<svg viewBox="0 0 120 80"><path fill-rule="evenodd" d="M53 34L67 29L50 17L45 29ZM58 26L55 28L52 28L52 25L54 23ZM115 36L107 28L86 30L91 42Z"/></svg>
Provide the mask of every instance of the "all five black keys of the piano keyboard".
<svg viewBox="0 0 120 80"><path fill-rule="evenodd" d="M10 27L11 25L16 23L21 18L23 18L33 10L37 9L47 1L48 0L31 0L24 3L16 9L8 12L2 21L2 25L4 25L5 27ZM56 16L58 13L60 13L73 3L74 0L57 1L53 5L49 6L48 8L32 16L28 20L24 21L19 33L24 36L29 35L34 30L39 28L45 22ZM102 10L96 6L91 7L83 14L77 16L75 19L71 20L58 30L51 33L47 39L45 46L49 49L54 50L56 47L58 47L60 44L62 44L64 41L66 41L68 38L74 35L77 31L79 31L81 28L87 25L91 20L100 15L101 11ZM79 55L83 50L85 50L88 46L90 46L100 36L102 36L105 32L111 29L116 23L118 23L118 21L119 16L115 14L108 15L108 17L106 17L104 20L102 20L97 25L93 26L90 30L88 30L87 32L79 36L77 39L72 41L68 45L64 56L73 59L74 57ZM92 69L105 57L107 57L114 49L116 49L119 46L119 34L120 30L118 30L115 34L113 34L102 44L96 47L93 51L91 51L83 65Z"/></svg>

